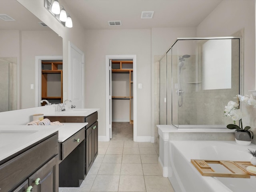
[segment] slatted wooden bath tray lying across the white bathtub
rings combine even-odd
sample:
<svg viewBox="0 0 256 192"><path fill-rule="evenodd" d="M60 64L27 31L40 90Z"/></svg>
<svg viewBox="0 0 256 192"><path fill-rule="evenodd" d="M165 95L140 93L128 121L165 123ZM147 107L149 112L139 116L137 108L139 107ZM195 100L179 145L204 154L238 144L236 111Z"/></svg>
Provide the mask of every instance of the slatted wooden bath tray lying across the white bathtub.
<svg viewBox="0 0 256 192"><path fill-rule="evenodd" d="M256 174L246 171L246 167L253 166L250 162L191 159L191 163L202 174L202 176L232 178L250 178L251 175L256 176ZM230 173L216 172L209 164L220 164L229 170Z"/></svg>

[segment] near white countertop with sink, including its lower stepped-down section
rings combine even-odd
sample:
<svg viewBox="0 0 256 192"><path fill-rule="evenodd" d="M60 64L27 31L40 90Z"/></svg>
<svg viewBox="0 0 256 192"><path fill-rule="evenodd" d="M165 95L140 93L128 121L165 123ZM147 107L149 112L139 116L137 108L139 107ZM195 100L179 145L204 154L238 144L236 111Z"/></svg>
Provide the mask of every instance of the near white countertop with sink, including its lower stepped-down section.
<svg viewBox="0 0 256 192"><path fill-rule="evenodd" d="M63 142L88 123L64 125L0 125L0 161L58 131L58 142Z"/></svg>

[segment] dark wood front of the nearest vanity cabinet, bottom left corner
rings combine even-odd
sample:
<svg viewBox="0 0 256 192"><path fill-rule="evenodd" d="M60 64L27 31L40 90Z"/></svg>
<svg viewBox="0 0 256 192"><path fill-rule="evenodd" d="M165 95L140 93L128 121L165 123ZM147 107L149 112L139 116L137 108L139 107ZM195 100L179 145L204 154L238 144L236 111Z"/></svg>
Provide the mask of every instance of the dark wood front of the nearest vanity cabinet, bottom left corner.
<svg viewBox="0 0 256 192"><path fill-rule="evenodd" d="M58 132L0 162L0 192L58 192Z"/></svg>

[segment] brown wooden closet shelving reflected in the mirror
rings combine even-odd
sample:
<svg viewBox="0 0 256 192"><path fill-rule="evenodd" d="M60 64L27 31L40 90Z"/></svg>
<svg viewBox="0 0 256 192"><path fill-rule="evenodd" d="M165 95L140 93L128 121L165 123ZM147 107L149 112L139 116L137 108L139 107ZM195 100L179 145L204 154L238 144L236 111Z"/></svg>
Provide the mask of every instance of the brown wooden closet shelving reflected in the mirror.
<svg viewBox="0 0 256 192"><path fill-rule="evenodd" d="M48 79L49 75L51 74L60 74L60 90L61 93L58 96L52 96L48 92ZM49 96L50 95L50 96ZM56 100L56 103L63 102L63 95L62 95L62 62L61 61L42 61L42 99L46 100ZM53 102L54 103L54 102Z"/></svg>

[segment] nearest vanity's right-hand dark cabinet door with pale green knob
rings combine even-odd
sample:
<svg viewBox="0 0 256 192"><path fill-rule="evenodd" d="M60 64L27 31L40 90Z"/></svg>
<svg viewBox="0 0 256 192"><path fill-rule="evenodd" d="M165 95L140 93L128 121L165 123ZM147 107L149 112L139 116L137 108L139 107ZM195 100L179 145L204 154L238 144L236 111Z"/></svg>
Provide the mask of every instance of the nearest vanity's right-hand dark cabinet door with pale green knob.
<svg viewBox="0 0 256 192"><path fill-rule="evenodd" d="M33 192L56 192L58 191L58 169L56 168L58 155L48 161L29 179L29 185Z"/></svg>

